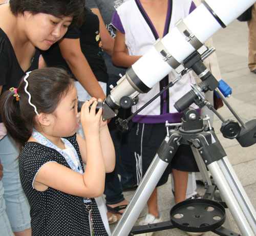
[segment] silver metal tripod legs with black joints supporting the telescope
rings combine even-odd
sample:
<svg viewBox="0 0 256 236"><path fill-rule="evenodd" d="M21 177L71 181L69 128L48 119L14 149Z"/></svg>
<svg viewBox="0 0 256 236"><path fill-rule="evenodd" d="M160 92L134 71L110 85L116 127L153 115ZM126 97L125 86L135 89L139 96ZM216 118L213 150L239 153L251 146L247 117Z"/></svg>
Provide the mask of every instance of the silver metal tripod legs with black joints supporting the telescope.
<svg viewBox="0 0 256 236"><path fill-rule="evenodd" d="M197 149L241 233L243 235L255 235L256 212L215 132L213 130L205 131L203 121L196 110L188 108L183 114L182 126L177 130L168 131L167 129L165 139L112 235L129 235L144 205L181 143L190 144L194 149Z"/></svg>

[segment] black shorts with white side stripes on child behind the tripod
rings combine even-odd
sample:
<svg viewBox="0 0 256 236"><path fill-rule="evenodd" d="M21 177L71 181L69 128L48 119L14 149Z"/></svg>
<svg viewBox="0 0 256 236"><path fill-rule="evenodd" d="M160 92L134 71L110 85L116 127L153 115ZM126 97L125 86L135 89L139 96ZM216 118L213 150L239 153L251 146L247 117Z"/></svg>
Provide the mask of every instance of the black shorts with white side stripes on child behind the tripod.
<svg viewBox="0 0 256 236"><path fill-rule="evenodd" d="M166 127L160 124L134 123L131 130L131 152L134 176L139 184L157 154L158 148L166 136ZM199 171L191 147L181 144L172 162L167 166L157 186L165 184L172 168L188 172Z"/></svg>

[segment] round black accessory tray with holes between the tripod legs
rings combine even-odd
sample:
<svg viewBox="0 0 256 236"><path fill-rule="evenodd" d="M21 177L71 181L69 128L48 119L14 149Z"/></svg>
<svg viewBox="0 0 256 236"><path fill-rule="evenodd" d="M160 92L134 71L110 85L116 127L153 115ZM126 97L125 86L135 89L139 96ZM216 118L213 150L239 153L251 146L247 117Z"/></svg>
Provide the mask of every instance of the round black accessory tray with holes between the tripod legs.
<svg viewBox="0 0 256 236"><path fill-rule="evenodd" d="M224 207L208 199L185 200L170 210L172 224L188 232L206 232L217 229L225 222L225 219Z"/></svg>

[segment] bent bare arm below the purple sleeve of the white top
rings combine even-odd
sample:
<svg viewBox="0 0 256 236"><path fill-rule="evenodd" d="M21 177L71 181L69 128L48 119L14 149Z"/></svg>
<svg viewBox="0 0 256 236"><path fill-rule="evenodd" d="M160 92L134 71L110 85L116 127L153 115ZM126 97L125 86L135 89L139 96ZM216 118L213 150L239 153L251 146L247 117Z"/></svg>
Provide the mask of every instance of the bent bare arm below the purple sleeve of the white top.
<svg viewBox="0 0 256 236"><path fill-rule="evenodd" d="M130 67L141 56L130 56L125 45L125 34L116 31L114 50L112 55L113 63L118 67Z"/></svg>

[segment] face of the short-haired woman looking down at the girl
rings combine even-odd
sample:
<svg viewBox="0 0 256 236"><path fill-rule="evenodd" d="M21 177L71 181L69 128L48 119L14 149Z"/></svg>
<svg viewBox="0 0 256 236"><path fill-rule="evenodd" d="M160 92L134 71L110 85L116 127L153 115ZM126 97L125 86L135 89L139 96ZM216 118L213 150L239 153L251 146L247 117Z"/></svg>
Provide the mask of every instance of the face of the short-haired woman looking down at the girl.
<svg viewBox="0 0 256 236"><path fill-rule="evenodd" d="M73 16L60 18L46 13L24 12L25 30L31 44L41 50L48 50L67 32Z"/></svg>

